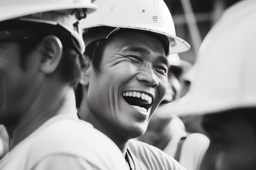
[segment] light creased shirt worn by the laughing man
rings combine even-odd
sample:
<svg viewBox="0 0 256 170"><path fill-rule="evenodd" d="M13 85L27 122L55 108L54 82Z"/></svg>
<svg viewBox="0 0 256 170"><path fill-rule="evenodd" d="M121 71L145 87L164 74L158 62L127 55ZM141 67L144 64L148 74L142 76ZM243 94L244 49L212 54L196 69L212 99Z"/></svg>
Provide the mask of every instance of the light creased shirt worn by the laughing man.
<svg viewBox="0 0 256 170"><path fill-rule="evenodd" d="M130 140L127 155L132 170L186 170L162 150L141 141Z"/></svg>

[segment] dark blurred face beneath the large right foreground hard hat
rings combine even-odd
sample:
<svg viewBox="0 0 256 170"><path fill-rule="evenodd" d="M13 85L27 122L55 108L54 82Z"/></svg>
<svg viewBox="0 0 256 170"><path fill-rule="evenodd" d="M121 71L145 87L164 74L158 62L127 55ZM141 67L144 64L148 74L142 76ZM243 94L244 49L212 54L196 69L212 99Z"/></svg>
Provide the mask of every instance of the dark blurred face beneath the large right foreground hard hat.
<svg viewBox="0 0 256 170"><path fill-rule="evenodd" d="M201 170L256 169L256 129L241 114L245 111L241 110L240 116L220 113L203 117L211 143Z"/></svg>

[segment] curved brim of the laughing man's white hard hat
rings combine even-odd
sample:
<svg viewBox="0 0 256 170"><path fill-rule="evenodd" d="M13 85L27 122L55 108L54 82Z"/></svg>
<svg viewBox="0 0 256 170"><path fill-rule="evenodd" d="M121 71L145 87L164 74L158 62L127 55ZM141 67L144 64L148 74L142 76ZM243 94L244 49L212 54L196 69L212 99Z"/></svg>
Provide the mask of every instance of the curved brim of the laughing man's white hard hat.
<svg viewBox="0 0 256 170"><path fill-rule="evenodd" d="M181 38L176 37L174 35L164 33L162 31L157 31L154 29L147 29L147 28L143 28L143 27L127 26L127 25L108 25L108 24L87 25L86 27L83 27L83 29L93 28L93 27L98 27L98 26L110 26L110 27L115 27L115 28L119 27L119 28L127 28L127 29L139 29L139 30L150 31L153 33L159 33L159 34L165 35L170 42L172 42L173 39L176 42L175 46L170 47L170 54L182 53L182 52L188 51L190 49L189 43L187 43L185 40L182 40Z"/></svg>

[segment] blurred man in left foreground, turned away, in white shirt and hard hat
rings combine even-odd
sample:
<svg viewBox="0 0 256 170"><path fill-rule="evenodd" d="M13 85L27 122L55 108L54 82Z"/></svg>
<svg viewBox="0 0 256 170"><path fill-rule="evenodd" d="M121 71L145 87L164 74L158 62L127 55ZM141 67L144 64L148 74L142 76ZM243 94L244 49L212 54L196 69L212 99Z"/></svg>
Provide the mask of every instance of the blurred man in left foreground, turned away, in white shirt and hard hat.
<svg viewBox="0 0 256 170"><path fill-rule="evenodd" d="M126 168L117 146L76 116L79 20L96 8L90 0L0 2L0 124L10 140L1 170Z"/></svg>

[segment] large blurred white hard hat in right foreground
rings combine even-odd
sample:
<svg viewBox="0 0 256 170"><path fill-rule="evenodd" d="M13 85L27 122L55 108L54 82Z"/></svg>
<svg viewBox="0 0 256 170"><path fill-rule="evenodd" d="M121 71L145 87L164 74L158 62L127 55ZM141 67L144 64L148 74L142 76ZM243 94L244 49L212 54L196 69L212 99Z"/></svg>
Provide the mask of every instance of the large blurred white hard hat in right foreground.
<svg viewBox="0 0 256 170"><path fill-rule="evenodd" d="M200 47L190 91L170 104L179 116L256 107L256 1L225 11Z"/></svg>

